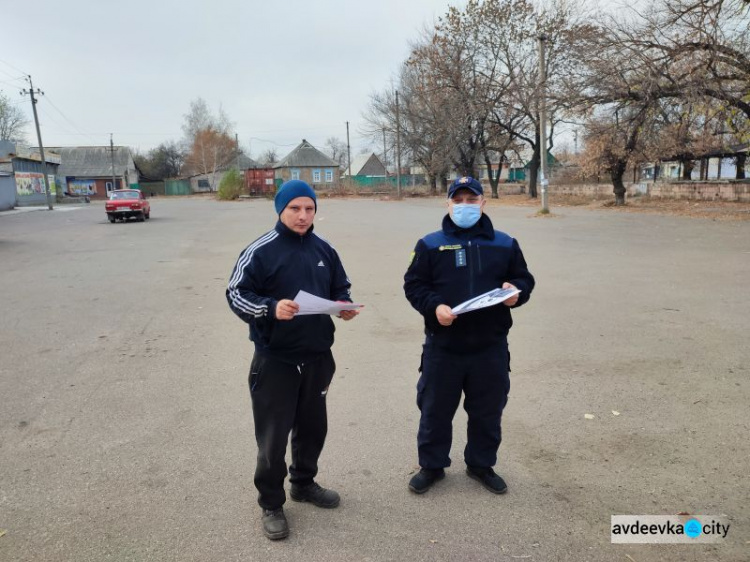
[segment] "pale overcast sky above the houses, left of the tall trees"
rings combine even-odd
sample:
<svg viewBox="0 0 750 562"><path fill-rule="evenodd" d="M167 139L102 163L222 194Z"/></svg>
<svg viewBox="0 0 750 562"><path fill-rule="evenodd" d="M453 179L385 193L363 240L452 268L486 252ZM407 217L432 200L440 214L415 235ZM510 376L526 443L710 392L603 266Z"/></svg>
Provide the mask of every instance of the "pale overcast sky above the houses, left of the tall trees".
<svg viewBox="0 0 750 562"><path fill-rule="evenodd" d="M0 5L6 0L0 1ZM22 74L47 146L147 150L182 137L189 103L204 98L234 123L254 156L285 155L302 138L352 153L369 96L388 86L409 41L463 0L40 0L3 7L0 89L31 119ZM28 84L25 84L28 87ZM33 125L28 140L36 144ZM262 140L261 140L262 139Z"/></svg>

